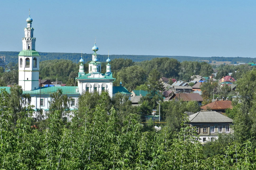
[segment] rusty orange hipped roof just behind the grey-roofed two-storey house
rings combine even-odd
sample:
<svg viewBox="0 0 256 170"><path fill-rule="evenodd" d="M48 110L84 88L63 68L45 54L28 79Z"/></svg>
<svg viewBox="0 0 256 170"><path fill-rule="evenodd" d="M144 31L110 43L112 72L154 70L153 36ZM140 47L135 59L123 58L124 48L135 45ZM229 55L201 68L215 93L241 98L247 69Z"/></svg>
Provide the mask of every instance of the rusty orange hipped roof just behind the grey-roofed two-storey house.
<svg viewBox="0 0 256 170"><path fill-rule="evenodd" d="M225 112L225 110L228 108L230 108L230 109L233 108L230 100L216 99L214 102L204 105L200 109L203 111L212 110L212 111L216 111L216 112Z"/></svg>

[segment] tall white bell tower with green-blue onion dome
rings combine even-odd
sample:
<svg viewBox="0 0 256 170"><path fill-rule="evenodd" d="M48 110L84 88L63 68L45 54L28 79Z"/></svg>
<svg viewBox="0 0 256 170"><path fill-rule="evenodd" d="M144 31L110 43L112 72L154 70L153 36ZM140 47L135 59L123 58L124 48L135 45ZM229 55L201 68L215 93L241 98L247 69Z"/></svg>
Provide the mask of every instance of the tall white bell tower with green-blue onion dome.
<svg viewBox="0 0 256 170"><path fill-rule="evenodd" d="M22 51L19 56L19 85L22 90L35 90L39 88L39 53L35 50L36 38L32 28L33 19L27 18L25 37L22 38Z"/></svg>

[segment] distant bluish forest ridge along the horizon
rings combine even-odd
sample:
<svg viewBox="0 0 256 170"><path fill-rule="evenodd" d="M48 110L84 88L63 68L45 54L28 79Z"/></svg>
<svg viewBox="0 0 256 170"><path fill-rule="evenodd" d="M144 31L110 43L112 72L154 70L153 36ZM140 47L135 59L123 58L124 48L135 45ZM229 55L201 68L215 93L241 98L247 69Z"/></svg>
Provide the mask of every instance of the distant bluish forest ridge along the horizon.
<svg viewBox="0 0 256 170"><path fill-rule="evenodd" d="M18 51L0 51L0 55L6 56L6 61L8 63L18 62ZM78 63L81 57L80 53L45 53L45 52L39 52L40 61L44 60L54 60L54 59L65 59L65 60L71 60L74 63ZM162 57L168 57L168 58L174 58L177 59L179 62L182 61L203 61L208 60L210 61L230 61L231 64L236 64L238 62L242 63L249 63L249 62L255 62L255 58L250 57L195 57L195 56L161 56L161 55L110 55L110 59L115 58L124 58L124 59L131 59L134 62L140 62L144 60L152 60L153 58L162 58ZM108 58L108 55L99 55L99 61L105 62ZM84 61L91 61L92 54L86 54L83 53L83 59Z"/></svg>

